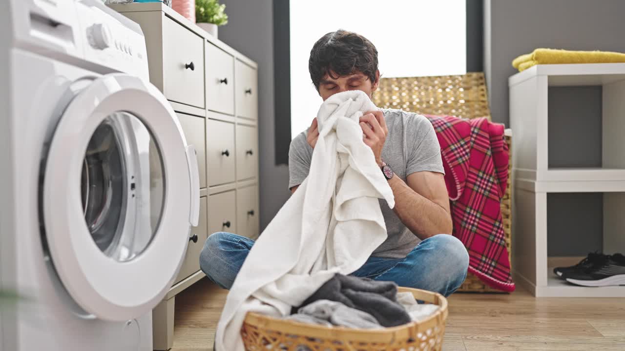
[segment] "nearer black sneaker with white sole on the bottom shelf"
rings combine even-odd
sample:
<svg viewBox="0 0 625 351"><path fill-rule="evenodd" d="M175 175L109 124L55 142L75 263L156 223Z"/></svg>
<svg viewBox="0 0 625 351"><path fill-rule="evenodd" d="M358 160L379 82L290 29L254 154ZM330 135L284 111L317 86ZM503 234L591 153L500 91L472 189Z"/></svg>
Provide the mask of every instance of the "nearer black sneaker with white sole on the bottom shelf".
<svg viewBox="0 0 625 351"><path fill-rule="evenodd" d="M562 275L567 282L585 287L625 285L625 256L614 254L597 260L592 267Z"/></svg>

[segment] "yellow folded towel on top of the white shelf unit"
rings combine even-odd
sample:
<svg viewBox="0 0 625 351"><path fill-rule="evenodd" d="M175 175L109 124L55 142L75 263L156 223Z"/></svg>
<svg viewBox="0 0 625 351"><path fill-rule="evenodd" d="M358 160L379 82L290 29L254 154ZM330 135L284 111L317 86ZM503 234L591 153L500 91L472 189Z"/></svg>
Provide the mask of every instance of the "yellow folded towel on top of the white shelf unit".
<svg viewBox="0 0 625 351"><path fill-rule="evenodd" d="M625 62L625 54L611 51L569 51L559 49L536 49L512 61L512 66L525 71L536 64L564 63L614 63Z"/></svg>

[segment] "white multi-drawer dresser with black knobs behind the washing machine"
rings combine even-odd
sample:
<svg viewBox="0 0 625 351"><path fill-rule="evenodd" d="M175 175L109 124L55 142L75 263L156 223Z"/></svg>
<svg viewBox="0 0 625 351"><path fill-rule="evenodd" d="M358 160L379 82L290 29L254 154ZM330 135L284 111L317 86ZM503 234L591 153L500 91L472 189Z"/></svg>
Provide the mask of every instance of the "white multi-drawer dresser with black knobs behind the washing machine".
<svg viewBox="0 0 625 351"><path fill-rule="evenodd" d="M159 2L111 7L141 25L150 80L197 150L199 225L173 287L153 314L154 349L168 350L176 294L204 277L199 254L208 235L259 235L257 65Z"/></svg>

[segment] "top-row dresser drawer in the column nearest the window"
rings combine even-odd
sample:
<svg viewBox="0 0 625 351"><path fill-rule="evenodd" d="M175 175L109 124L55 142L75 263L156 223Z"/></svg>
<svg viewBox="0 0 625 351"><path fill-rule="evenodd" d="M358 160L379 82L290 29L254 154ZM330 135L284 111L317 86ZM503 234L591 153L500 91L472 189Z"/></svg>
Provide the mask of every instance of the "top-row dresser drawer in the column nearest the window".
<svg viewBox="0 0 625 351"><path fill-rule="evenodd" d="M236 61L236 114L258 118L258 72L241 61Z"/></svg>

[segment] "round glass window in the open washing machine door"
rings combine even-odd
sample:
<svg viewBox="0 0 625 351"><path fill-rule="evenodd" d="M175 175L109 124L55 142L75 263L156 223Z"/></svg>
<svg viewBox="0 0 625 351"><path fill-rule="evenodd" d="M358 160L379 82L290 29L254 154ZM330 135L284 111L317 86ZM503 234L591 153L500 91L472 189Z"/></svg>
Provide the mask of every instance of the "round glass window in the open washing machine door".
<svg viewBox="0 0 625 351"><path fill-rule="evenodd" d="M81 197L91 237L104 254L124 262L148 247L163 213L163 173L156 142L138 117L115 112L96 127L84 156Z"/></svg>

